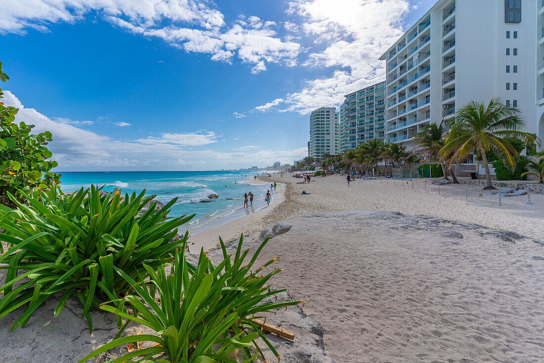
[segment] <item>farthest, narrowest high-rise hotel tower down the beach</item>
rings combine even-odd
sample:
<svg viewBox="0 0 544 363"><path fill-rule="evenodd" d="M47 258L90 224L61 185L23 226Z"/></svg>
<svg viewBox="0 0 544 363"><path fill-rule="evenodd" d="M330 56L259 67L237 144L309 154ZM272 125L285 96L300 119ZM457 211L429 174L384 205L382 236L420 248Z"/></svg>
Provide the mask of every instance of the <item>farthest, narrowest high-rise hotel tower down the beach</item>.
<svg viewBox="0 0 544 363"><path fill-rule="evenodd" d="M335 107L321 107L310 114L308 156L319 159L325 153L336 155L338 150L338 113Z"/></svg>

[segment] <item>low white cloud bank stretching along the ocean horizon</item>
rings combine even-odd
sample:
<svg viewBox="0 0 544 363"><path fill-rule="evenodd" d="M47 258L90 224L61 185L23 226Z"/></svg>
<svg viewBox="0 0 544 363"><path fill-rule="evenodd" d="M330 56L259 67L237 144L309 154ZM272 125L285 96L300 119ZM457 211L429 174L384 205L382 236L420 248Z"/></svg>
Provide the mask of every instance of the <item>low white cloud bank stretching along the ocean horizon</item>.
<svg viewBox="0 0 544 363"><path fill-rule="evenodd" d="M220 136L212 131L162 133L139 139L113 139L74 125L67 119L52 119L34 108L26 108L10 91L2 101L19 108L16 121L35 125L34 133L51 131L47 146L59 170L202 170L247 168L249 164L290 163L307 153L296 150L260 150L248 145L221 152L208 149ZM62 120L62 121L58 121ZM69 122L68 122L69 121ZM198 149L191 150L192 147Z"/></svg>

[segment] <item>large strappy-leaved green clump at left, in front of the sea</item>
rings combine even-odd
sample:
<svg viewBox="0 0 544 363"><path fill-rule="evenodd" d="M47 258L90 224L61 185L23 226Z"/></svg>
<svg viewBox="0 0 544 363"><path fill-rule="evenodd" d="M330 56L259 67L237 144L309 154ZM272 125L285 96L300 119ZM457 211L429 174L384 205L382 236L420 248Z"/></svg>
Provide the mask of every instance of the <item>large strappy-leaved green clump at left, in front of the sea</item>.
<svg viewBox="0 0 544 363"><path fill-rule="evenodd" d="M157 268L183 246L184 239L174 241L177 227L193 218L167 218L176 199L158 211L152 203L138 216L154 197L144 198L145 190L122 198L118 189L106 194L92 186L66 195L53 184L46 192L21 193L28 205L11 194L17 210L0 205L0 241L8 245L0 256L0 269L7 270L0 318L28 304L12 331L57 293L62 295L54 316L77 296L92 331L90 307L118 299L130 287L116 269L134 278L146 276L144 263Z"/></svg>

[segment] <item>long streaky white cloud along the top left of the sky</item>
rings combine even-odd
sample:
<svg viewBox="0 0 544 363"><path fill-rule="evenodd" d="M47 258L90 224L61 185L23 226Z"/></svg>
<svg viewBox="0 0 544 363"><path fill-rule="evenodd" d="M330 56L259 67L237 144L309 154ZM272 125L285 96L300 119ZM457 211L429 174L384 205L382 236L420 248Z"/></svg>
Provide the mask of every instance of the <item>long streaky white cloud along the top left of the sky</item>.
<svg viewBox="0 0 544 363"><path fill-rule="evenodd" d="M52 24L81 21L88 13L187 52L211 54L212 60L230 63L238 56L253 65L253 73L265 70L265 62L295 65L301 49L270 29L274 21L250 16L228 27L210 0L13 0L2 4L0 34L24 34L29 28L46 32Z"/></svg>

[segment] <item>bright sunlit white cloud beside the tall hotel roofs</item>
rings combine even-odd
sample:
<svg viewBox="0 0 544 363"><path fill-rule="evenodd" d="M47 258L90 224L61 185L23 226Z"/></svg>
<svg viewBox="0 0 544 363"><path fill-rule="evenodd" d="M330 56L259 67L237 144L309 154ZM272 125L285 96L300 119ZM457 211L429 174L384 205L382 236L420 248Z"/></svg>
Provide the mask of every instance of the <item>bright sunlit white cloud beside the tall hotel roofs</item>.
<svg viewBox="0 0 544 363"><path fill-rule="evenodd" d="M287 94L283 97L286 107L280 112L307 114L318 107L336 106L343 95L382 81L385 64L378 58L403 34L409 5L407 0L291 1L287 13L302 16L304 22L298 26L286 21L283 27L289 32L302 28L306 36L325 44L323 51L310 53L304 65L329 67L332 73L310 79L300 91Z"/></svg>

